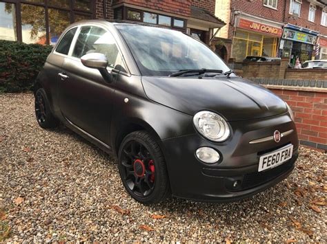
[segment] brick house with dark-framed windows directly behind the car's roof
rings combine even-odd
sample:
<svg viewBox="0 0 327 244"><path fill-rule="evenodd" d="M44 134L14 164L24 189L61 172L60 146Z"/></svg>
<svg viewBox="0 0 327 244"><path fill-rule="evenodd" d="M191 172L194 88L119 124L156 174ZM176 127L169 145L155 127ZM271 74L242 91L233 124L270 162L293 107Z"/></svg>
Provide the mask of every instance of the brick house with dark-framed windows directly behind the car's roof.
<svg viewBox="0 0 327 244"><path fill-rule="evenodd" d="M162 25L206 43L225 25L215 16L215 0L0 0L0 39L54 44L70 23L83 19Z"/></svg>

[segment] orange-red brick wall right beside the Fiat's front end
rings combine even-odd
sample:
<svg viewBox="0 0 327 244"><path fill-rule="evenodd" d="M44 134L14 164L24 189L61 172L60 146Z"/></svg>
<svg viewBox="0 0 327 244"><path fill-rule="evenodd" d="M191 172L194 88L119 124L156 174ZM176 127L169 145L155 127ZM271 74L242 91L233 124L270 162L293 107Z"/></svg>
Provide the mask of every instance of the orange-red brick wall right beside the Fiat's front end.
<svg viewBox="0 0 327 244"><path fill-rule="evenodd" d="M327 151L327 93L271 90L293 110L300 144Z"/></svg>

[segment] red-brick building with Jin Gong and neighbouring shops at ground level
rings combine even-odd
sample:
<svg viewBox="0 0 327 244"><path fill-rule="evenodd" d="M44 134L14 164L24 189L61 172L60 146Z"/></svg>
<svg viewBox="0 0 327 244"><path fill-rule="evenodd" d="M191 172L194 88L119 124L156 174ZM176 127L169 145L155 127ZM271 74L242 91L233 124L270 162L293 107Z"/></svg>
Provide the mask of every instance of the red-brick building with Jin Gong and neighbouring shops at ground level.
<svg viewBox="0 0 327 244"><path fill-rule="evenodd" d="M215 38L225 60L326 58L326 0L217 0L216 14L228 23Z"/></svg>

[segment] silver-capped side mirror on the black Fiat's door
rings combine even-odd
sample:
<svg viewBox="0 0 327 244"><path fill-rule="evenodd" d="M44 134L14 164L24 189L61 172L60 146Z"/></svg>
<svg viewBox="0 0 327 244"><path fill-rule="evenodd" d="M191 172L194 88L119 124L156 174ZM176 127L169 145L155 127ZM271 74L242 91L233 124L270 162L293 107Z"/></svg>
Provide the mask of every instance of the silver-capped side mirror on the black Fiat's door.
<svg viewBox="0 0 327 244"><path fill-rule="evenodd" d="M85 54L81 57L81 63L92 69L99 69L101 75L107 82L112 81L112 75L107 70L108 60L106 55L97 52Z"/></svg>

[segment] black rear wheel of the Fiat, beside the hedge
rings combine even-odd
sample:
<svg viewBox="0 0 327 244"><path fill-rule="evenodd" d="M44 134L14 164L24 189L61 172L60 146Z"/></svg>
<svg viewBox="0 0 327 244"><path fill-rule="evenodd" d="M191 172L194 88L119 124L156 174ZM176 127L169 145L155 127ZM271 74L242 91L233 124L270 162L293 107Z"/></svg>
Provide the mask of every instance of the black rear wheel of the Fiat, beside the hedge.
<svg viewBox="0 0 327 244"><path fill-rule="evenodd" d="M43 129L52 129L59 125L59 121L50 111L48 97L43 88L39 88L35 92L35 115L39 126Z"/></svg>

